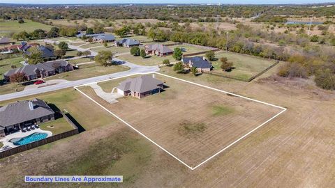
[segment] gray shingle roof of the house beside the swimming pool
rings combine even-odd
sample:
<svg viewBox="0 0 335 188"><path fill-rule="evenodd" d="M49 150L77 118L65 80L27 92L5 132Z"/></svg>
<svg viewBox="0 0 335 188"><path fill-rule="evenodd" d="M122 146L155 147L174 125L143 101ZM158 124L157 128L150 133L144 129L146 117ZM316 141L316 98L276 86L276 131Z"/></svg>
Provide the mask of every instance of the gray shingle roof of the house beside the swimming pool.
<svg viewBox="0 0 335 188"><path fill-rule="evenodd" d="M29 100L18 101L1 107L0 127L54 114L54 111L43 100L34 99L31 102L34 104L33 110L29 109Z"/></svg>

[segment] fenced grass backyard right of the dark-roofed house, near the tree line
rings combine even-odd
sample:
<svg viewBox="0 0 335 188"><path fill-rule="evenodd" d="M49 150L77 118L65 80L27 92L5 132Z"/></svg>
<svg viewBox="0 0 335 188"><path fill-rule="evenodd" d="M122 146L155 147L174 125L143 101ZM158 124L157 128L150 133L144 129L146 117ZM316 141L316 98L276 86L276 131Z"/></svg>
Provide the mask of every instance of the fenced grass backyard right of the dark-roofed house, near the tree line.
<svg viewBox="0 0 335 188"><path fill-rule="evenodd" d="M221 57L226 57L228 58L229 62L233 63L233 69L230 72L223 71L220 68ZM239 79L249 79L276 63L274 60L223 51L216 52L216 58L218 58L217 61L211 61L212 65L214 66L214 72Z"/></svg>

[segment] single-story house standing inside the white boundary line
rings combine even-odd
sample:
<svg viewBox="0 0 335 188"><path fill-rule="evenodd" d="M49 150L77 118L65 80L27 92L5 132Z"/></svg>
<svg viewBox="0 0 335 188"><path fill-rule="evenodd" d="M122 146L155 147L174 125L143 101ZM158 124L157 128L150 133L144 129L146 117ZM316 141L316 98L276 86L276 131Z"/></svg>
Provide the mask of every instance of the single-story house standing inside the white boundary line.
<svg viewBox="0 0 335 188"><path fill-rule="evenodd" d="M153 95L155 93L161 93L163 90L163 81L149 75L143 75L135 78L128 78L122 81L119 86L117 86L117 93L133 97L142 98L147 95Z"/></svg>

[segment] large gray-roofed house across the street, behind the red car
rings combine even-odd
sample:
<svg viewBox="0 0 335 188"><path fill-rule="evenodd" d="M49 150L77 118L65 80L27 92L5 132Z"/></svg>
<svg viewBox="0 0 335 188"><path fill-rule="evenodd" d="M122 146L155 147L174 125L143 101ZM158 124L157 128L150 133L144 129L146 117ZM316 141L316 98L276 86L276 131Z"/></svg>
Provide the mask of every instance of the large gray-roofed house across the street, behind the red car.
<svg viewBox="0 0 335 188"><path fill-rule="evenodd" d="M10 76L18 72L24 73L28 81L38 78L50 77L57 73L73 70L73 65L64 60L48 61L45 63L37 63L36 65L24 65L21 68L8 70L3 74L6 81L10 81Z"/></svg>

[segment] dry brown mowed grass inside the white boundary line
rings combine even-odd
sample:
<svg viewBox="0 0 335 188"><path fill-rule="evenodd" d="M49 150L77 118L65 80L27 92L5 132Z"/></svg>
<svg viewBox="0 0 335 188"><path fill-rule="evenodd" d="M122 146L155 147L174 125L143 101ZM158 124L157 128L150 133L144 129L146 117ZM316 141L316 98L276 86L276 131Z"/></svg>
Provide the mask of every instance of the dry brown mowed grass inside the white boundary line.
<svg viewBox="0 0 335 188"><path fill-rule="evenodd" d="M84 91L189 166L197 166L283 110L161 75L156 77L168 88L141 100L122 97L109 104L89 86ZM100 86L110 91L119 81Z"/></svg>

